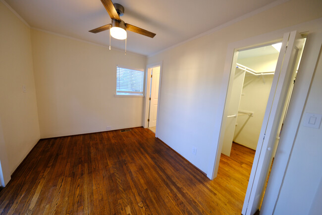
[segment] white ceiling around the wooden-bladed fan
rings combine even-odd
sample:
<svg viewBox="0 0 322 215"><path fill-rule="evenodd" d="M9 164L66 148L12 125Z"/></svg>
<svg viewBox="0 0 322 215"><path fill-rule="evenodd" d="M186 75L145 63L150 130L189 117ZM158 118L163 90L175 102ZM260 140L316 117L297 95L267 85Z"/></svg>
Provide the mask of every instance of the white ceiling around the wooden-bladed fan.
<svg viewBox="0 0 322 215"><path fill-rule="evenodd" d="M5 0L33 28L108 46L109 31L93 34L110 23L101 0ZM150 55L193 38L275 0L112 0L125 8L126 23L157 35L128 32L127 50ZM111 39L124 50L125 42Z"/></svg>

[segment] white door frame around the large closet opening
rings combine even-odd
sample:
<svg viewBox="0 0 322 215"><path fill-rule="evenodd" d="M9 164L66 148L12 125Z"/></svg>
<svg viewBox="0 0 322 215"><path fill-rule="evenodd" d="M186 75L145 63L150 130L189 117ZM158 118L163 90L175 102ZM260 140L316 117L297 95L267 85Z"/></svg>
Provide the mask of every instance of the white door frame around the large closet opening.
<svg viewBox="0 0 322 215"><path fill-rule="evenodd" d="M259 36L255 36L252 38L248 38L242 41L237 41L234 43L231 43L228 45L227 48L227 53L226 53L226 60L225 60L225 65L224 65L224 73L223 73L223 78L222 78L222 85L220 88L220 97L219 97L219 101L218 104L220 104L220 106L218 107L218 109L216 110L216 120L215 120L215 134L214 134L214 140L215 140L215 144L212 146L213 148L211 148L211 154L210 154L210 162L209 162L209 168L208 168L208 174L207 176L210 179L214 179L217 175L217 171L218 171L218 165L219 165L219 160L220 160L220 153L221 153L221 148L222 148L222 138L223 137L223 131L224 131L224 120L223 117L225 116L225 104L226 104L226 97L227 97L227 93L229 92L229 80L231 79L230 76L230 71L231 71L231 67L232 67L232 61L233 61L233 56L236 53L236 51L239 50L243 50L243 49L248 49L248 48L253 48L253 47L258 47L258 46L262 46L265 44L269 44L269 43L275 43L278 41L282 40L282 36L285 32L288 31L292 31L295 30L293 29L282 29L282 30L278 30L275 32L271 32L268 34L264 34L264 35L259 35ZM298 29L298 30L303 30L303 29ZM306 29L305 29L306 30ZM313 31L314 32L314 31ZM309 42L309 36L308 36L308 41ZM306 45L307 46L307 45ZM319 55L319 52L314 48L314 47L305 47L305 50L307 51L312 58L316 58L315 62L317 60L317 57ZM314 52L314 54L310 54L310 52L312 52L311 50ZM305 54L305 50L304 53ZM312 56L313 55L313 56ZM304 55L303 55L304 56ZM312 60L312 59L310 59ZM308 64L306 61L304 61L304 58L302 58L302 64ZM278 195L282 186L282 180L284 178L285 172L286 172L286 168L287 168L287 163L289 161L290 155L291 155L291 151L292 151L292 147L296 138L296 133L297 130L300 126L300 120L302 117L302 113L304 110L304 106L305 106L305 101L309 92L309 87L311 85L311 80L313 77L313 73L314 73L314 65L312 65L312 63L310 65L306 65L306 67L310 67L309 70L307 69L303 69L303 71L305 71L306 74L302 74L302 75L298 75L297 76L297 84L294 85L294 90L292 93L292 98L290 101L290 107L292 107L291 109L288 110L288 115L286 116L286 120L291 121L292 123L288 123L284 125L283 127L283 135L281 136L281 140L279 145L281 145L283 143L283 146L279 146L277 149L277 153L276 155L279 153L280 150L283 151L284 155L283 156L279 156L278 158L278 162L277 159L275 158L276 161L274 161L272 170L271 170L271 175L270 175L270 179L268 182L268 188L270 187L271 190L270 192L273 195L267 195L264 197L264 202L263 202L263 206L264 205L272 205L273 207L275 206L277 199L278 199ZM304 67L304 66L303 66ZM301 70L301 65L299 67L299 71ZM304 72L303 72L304 73ZM296 116L296 117L295 117ZM286 130L288 131L288 134L286 134ZM282 137L285 139L285 141L282 142ZM286 141L287 140L287 141ZM278 157L278 156L276 156ZM271 182L270 182L271 181ZM274 186L269 186L271 184L274 184ZM273 188L273 189L272 189Z"/></svg>

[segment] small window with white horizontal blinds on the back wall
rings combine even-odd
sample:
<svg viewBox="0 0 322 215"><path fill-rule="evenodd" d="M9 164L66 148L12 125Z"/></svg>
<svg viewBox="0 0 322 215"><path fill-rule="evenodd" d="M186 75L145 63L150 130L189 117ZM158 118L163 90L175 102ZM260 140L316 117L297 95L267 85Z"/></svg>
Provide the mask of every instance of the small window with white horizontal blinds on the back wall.
<svg viewBox="0 0 322 215"><path fill-rule="evenodd" d="M116 95L143 96L144 71L116 67Z"/></svg>

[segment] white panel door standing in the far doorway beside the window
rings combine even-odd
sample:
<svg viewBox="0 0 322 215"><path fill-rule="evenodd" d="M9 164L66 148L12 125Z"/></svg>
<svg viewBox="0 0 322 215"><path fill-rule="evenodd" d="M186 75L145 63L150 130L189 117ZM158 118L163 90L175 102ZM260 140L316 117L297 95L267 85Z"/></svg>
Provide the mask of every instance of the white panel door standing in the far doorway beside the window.
<svg viewBox="0 0 322 215"><path fill-rule="evenodd" d="M151 74L152 74L152 83L151 83L149 127L155 127L157 126L160 66L152 68Z"/></svg>

